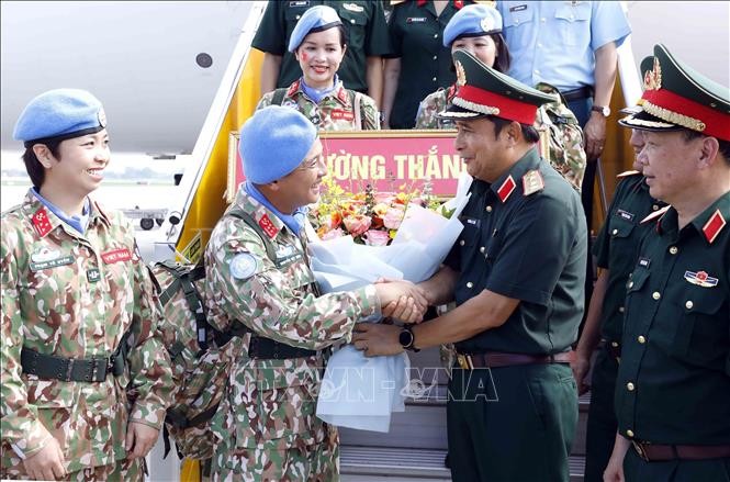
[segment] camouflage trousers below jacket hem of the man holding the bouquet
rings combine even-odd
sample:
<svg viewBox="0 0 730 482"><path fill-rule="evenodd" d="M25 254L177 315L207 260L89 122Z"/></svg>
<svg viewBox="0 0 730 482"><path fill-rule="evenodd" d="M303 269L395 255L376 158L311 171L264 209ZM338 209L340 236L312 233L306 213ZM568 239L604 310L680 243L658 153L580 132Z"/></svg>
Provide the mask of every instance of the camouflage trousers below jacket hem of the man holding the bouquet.
<svg viewBox="0 0 730 482"><path fill-rule="evenodd" d="M218 446L211 481L218 482L335 482L339 480L339 438L327 427L327 437L312 446L279 450Z"/></svg>

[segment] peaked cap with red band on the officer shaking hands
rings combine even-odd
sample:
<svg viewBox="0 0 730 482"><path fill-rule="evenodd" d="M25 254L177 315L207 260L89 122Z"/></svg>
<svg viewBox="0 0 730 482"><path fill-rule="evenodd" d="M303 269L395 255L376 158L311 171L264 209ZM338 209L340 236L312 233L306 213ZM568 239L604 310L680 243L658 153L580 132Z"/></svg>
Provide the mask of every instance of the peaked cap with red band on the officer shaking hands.
<svg viewBox="0 0 730 482"><path fill-rule="evenodd" d="M451 107L439 112L440 117L460 120L494 115L532 125L538 108L557 99L487 67L464 51L453 53L453 65L458 89Z"/></svg>

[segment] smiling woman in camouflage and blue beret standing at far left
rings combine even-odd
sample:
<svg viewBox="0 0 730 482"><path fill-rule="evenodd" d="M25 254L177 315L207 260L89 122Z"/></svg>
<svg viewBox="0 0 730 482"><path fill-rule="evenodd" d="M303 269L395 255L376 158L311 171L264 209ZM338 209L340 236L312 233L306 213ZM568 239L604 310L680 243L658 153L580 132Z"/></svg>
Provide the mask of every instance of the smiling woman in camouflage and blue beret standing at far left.
<svg viewBox="0 0 730 482"><path fill-rule="evenodd" d="M143 480L165 418L159 302L131 224L87 195L104 126L75 89L38 96L15 126L34 187L2 214L3 479Z"/></svg>

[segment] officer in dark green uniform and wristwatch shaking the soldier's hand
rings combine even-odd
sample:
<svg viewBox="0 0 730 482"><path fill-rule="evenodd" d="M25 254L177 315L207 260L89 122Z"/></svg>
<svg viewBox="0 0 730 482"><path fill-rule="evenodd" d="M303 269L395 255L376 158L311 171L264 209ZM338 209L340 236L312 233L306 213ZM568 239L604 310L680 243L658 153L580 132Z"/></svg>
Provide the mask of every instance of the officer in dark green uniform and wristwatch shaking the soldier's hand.
<svg viewBox="0 0 730 482"><path fill-rule="evenodd" d="M568 363L586 261L581 200L536 147L536 111L553 98L467 52L453 57L460 87L441 115L456 117L454 145L474 181L459 240L420 287L431 304L457 307L412 328L358 325L355 345L374 356L456 344L454 481L565 481L577 422Z"/></svg>

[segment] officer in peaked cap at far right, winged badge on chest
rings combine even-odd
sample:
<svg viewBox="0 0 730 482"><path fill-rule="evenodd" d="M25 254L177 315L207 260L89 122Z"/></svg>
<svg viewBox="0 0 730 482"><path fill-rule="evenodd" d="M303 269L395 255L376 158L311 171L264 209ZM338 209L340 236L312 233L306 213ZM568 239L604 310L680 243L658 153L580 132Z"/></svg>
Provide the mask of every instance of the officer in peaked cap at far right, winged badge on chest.
<svg viewBox="0 0 730 482"><path fill-rule="evenodd" d="M607 481L719 481L730 473L730 97L654 46L639 156L649 193L627 283Z"/></svg>

